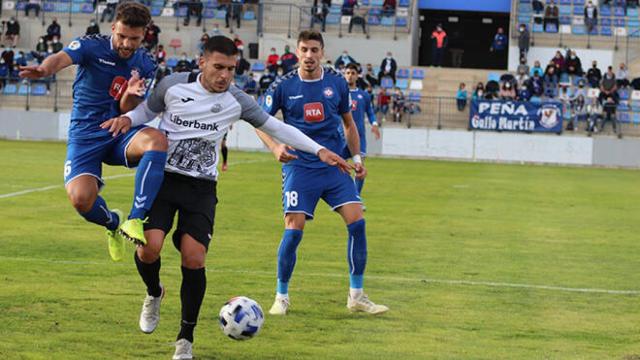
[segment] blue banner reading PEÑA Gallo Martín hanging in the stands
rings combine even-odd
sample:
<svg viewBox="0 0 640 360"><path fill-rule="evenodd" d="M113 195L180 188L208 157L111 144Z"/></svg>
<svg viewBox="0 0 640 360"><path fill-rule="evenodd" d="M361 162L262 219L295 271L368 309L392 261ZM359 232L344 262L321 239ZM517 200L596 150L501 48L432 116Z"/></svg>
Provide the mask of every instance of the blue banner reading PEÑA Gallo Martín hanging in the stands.
<svg viewBox="0 0 640 360"><path fill-rule="evenodd" d="M470 130L562 132L562 104L475 100L469 112Z"/></svg>

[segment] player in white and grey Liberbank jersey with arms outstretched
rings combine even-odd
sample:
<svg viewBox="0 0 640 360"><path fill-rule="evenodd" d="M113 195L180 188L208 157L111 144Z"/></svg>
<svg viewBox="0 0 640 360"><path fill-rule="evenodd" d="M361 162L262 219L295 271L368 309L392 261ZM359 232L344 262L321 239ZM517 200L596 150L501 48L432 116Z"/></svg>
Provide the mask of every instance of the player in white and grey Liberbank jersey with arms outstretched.
<svg viewBox="0 0 640 360"><path fill-rule="evenodd" d="M147 286L139 325L143 332L151 333L158 325L164 295L159 277L160 250L178 212L173 243L182 256L182 322L173 359L193 356L193 330L206 288L205 257L217 203L218 143L229 127L243 119L283 143L316 154L329 165L345 172L351 169L344 159L270 116L252 97L230 86L236 54L231 39L210 38L199 59L199 74L177 73L162 79L144 103L102 124L117 135L162 113L159 128L169 140L165 178L148 213L147 244L138 247L134 259Z"/></svg>

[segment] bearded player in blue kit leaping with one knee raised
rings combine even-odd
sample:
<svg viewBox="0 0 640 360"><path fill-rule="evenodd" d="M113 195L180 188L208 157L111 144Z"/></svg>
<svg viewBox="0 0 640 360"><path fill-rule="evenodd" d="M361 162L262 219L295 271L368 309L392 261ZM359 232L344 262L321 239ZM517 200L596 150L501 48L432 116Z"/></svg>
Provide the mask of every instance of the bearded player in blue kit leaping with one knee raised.
<svg viewBox="0 0 640 360"><path fill-rule="evenodd" d="M89 35L72 41L41 65L21 68L20 76L38 79L78 65L73 83L73 110L64 163L64 181L73 207L87 221L107 228L109 253L124 255L124 239L145 244L143 219L162 184L167 139L160 131L137 127L113 136L100 124L135 108L154 78L156 63L140 48L149 10L139 3L117 8L111 36ZM104 184L102 163L138 166L135 193L128 220L119 210L109 210L98 195Z"/></svg>

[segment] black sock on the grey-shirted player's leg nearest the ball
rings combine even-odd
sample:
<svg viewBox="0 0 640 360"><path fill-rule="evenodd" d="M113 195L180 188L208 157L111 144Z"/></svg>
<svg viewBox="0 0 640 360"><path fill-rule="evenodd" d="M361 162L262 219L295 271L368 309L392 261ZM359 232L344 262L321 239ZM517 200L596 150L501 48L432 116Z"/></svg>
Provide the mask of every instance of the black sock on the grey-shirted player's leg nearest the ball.
<svg viewBox="0 0 640 360"><path fill-rule="evenodd" d="M180 333L176 340L187 339L193 342L193 329L198 322L200 305L207 289L207 276L205 268L187 269L182 267L182 286L180 287L180 300L182 302L182 322Z"/></svg>

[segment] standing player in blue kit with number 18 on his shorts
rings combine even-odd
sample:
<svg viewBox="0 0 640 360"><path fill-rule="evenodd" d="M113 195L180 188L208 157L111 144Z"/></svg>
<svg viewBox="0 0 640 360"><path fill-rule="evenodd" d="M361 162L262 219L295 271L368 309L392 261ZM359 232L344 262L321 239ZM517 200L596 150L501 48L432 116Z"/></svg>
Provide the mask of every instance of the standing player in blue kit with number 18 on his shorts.
<svg viewBox="0 0 640 360"><path fill-rule="evenodd" d="M321 65L324 41L316 31L305 30L298 36L296 54L300 67L276 80L265 96L264 108L271 115L282 111L284 122L300 129L307 136L339 153L344 134L353 156L356 178L363 179L367 171L362 165L358 129L351 116L349 87L333 68ZM349 296L351 311L380 314L389 310L374 304L363 292L364 269L367 262L367 238L362 203L349 174L320 162L318 157L294 151L276 143L267 134L258 135L276 158L286 163L282 168L285 231L278 249L278 283L276 300L269 310L273 315L285 315L289 309L289 280L296 263L296 249L302 240L307 219L313 219L320 199L337 211L347 225L347 261L349 263Z"/></svg>

